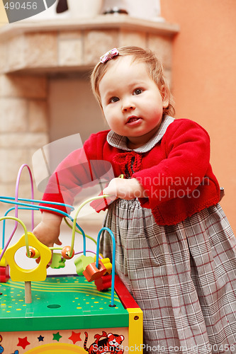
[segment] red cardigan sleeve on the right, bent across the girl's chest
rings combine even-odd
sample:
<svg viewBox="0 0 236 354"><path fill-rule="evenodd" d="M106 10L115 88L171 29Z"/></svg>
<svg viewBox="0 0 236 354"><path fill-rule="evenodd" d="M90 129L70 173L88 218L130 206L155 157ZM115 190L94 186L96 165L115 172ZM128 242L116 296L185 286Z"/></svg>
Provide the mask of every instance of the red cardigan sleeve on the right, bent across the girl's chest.
<svg viewBox="0 0 236 354"><path fill-rule="evenodd" d="M210 139L206 130L191 120L175 120L162 138L164 159L156 166L133 174L148 198L143 207L154 208L163 202L191 195L210 168Z"/></svg>

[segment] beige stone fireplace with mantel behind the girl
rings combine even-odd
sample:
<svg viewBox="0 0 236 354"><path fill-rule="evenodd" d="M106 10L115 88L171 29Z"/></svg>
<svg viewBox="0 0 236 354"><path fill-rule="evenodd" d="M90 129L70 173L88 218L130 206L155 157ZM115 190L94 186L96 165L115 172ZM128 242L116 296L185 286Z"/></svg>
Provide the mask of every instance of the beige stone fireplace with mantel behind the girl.
<svg viewBox="0 0 236 354"><path fill-rule="evenodd" d="M0 195L14 195L19 167L31 166L40 147L77 132L84 141L91 132L105 129L89 86L89 72L104 52L123 45L150 47L171 84L172 40L178 31L176 24L123 15L2 27ZM20 193L30 198L27 171ZM37 192L35 198L40 197Z"/></svg>

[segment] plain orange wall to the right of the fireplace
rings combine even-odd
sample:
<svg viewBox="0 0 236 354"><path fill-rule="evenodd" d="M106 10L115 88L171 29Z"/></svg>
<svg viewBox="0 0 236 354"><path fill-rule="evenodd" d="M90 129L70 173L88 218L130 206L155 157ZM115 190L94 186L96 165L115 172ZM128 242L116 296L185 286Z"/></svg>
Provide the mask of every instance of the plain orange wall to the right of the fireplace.
<svg viewBox="0 0 236 354"><path fill-rule="evenodd" d="M220 204L236 234L236 1L161 0L161 11L180 25L173 47L176 118L208 130L213 171L225 188Z"/></svg>

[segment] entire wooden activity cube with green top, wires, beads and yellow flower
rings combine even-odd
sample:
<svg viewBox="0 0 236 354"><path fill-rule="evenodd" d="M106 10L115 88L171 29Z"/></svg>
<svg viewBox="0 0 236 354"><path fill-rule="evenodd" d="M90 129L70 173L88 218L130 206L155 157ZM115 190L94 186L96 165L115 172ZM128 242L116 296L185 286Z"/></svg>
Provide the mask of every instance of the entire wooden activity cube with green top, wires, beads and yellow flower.
<svg viewBox="0 0 236 354"><path fill-rule="evenodd" d="M113 241L112 265L99 255L103 228L95 261L86 256L85 234L80 232L84 254L74 261L77 275L47 276L52 248L26 230L16 207L39 210L35 205L39 201L20 200L16 195L0 197L0 202L10 202L16 209L15 217L5 215L0 221L15 219L25 232L11 246L16 227L6 245L3 235L3 251L0 249L0 354L142 353L142 310L115 275L116 243L111 231L107 229ZM20 247L26 249L29 258L38 258L33 269L24 270L16 263L14 255ZM66 259L74 256L74 242L61 250L53 253L52 268L62 268Z"/></svg>

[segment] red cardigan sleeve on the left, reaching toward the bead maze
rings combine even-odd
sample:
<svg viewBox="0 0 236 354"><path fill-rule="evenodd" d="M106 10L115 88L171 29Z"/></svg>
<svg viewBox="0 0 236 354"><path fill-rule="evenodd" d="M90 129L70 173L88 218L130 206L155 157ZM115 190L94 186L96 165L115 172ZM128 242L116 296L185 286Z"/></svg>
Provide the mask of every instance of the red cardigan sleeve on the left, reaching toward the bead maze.
<svg viewBox="0 0 236 354"><path fill-rule="evenodd" d="M99 183L103 176L112 176L111 164L102 159L102 148L107 132L91 135L82 149L69 154L58 166L45 188L41 206L55 207L57 210L69 212L63 206L54 206L50 202L73 204L74 197L89 186ZM110 177L111 178L111 177ZM109 178L108 178L109 179Z"/></svg>

